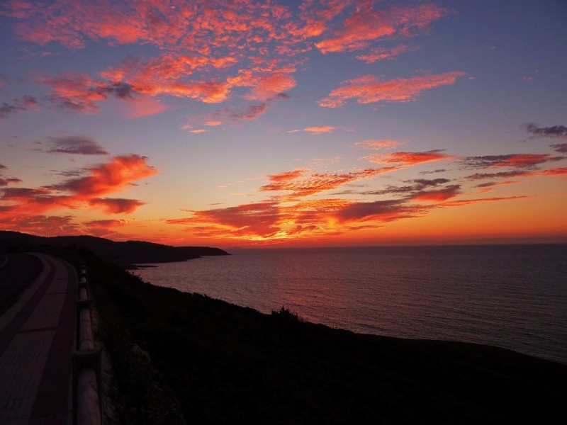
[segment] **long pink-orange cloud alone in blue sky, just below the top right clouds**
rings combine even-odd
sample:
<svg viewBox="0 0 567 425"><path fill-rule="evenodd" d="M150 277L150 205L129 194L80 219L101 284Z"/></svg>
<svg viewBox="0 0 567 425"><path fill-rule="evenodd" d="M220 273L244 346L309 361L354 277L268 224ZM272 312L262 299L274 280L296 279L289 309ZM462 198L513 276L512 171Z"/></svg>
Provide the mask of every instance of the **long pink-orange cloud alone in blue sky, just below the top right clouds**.
<svg viewBox="0 0 567 425"><path fill-rule="evenodd" d="M455 84L457 77L464 75L464 72L447 72L445 74L390 81L380 81L378 77L366 75L365 77L344 81L342 87L331 91L327 98L319 101L319 105L325 108L337 108L351 98L356 98L357 103L415 101L422 91Z"/></svg>

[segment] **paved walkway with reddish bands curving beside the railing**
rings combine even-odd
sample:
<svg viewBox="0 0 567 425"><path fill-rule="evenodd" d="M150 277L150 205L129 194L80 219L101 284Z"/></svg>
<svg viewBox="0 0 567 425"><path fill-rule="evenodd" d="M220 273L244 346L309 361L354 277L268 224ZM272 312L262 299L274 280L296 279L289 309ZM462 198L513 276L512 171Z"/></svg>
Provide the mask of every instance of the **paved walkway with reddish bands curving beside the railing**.
<svg viewBox="0 0 567 425"><path fill-rule="evenodd" d="M0 316L0 425L70 425L77 275L60 259L31 255L0 268L1 285L29 283Z"/></svg>

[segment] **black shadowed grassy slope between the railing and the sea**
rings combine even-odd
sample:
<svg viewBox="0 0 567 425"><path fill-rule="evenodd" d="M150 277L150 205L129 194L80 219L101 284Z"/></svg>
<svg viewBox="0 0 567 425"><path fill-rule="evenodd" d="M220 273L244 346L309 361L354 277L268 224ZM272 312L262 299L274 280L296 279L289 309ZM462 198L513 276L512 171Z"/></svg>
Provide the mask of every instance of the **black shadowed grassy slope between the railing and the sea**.
<svg viewBox="0 0 567 425"><path fill-rule="evenodd" d="M125 423L174 424L181 413L187 423L544 424L567 414L567 365L354 334L158 288L92 256L88 267Z"/></svg>

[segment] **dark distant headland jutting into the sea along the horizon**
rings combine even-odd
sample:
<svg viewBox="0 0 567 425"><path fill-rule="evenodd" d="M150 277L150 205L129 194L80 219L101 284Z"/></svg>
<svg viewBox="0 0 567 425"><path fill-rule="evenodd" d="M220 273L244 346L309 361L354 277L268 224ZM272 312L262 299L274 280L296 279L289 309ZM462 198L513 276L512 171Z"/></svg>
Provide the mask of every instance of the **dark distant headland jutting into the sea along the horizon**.
<svg viewBox="0 0 567 425"><path fill-rule="evenodd" d="M112 261L125 268L135 268L135 264L169 263L197 259L201 256L230 255L227 251L209 246L169 246L142 241L113 242L110 239L86 235L41 237L0 230L0 253L33 251L43 245L89 249L101 259Z"/></svg>

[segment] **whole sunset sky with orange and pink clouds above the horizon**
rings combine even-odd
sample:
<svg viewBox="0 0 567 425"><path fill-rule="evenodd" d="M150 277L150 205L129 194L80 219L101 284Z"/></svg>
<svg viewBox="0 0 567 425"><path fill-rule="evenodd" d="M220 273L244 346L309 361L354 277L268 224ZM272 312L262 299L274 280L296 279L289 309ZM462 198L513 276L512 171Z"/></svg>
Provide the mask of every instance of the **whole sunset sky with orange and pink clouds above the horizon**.
<svg viewBox="0 0 567 425"><path fill-rule="evenodd" d="M0 229L567 242L563 0L6 0Z"/></svg>

